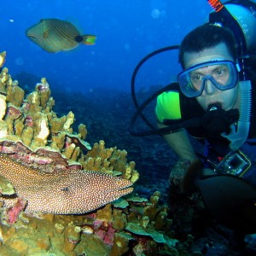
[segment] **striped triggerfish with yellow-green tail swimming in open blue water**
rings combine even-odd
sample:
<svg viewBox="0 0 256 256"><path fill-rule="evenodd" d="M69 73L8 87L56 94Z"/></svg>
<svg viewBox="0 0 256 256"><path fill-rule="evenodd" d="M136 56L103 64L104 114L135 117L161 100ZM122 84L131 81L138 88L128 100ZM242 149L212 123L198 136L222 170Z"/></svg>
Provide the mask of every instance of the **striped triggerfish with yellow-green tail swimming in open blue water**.
<svg viewBox="0 0 256 256"><path fill-rule="evenodd" d="M79 44L95 44L96 36L82 35L78 28L65 20L45 19L26 30L26 37L49 53L70 50Z"/></svg>

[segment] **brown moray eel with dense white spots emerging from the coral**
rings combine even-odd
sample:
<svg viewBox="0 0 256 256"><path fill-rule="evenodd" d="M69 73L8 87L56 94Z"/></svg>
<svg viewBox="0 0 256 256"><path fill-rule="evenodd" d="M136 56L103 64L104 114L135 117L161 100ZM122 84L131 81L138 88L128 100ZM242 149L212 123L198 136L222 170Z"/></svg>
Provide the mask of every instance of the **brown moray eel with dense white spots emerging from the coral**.
<svg viewBox="0 0 256 256"><path fill-rule="evenodd" d="M132 183L102 172L45 173L0 155L0 175L27 201L26 212L79 214L96 210L132 192Z"/></svg>

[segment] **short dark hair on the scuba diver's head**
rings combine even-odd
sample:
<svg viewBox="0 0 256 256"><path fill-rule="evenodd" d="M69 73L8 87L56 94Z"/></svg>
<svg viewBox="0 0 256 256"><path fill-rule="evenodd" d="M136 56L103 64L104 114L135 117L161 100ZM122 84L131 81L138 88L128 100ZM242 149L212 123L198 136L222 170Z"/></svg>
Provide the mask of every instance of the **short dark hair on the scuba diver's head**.
<svg viewBox="0 0 256 256"><path fill-rule="evenodd" d="M221 43L226 44L230 55L236 60L236 39L230 29L209 23L198 26L183 38L179 48L178 61L184 68L185 52L200 52L203 49L209 49Z"/></svg>

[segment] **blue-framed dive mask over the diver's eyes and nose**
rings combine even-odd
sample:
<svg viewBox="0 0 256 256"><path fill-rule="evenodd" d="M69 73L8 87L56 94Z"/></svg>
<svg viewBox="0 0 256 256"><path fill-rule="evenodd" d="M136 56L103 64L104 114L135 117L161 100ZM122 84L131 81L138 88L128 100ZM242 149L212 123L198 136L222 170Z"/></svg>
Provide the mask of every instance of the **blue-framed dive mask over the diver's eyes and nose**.
<svg viewBox="0 0 256 256"><path fill-rule="evenodd" d="M233 61L207 61L189 67L177 75L181 91L187 97L201 96L207 80L218 90L234 88L238 81L238 69Z"/></svg>

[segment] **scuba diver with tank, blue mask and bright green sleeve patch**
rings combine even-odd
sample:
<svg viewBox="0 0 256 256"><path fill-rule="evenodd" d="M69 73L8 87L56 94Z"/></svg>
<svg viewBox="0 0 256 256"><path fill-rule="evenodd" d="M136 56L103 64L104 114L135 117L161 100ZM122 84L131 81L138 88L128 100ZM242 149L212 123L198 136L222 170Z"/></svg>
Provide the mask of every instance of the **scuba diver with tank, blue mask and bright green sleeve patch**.
<svg viewBox="0 0 256 256"><path fill-rule="evenodd" d="M155 133L179 158L169 177L177 232L200 229L202 198L207 211L243 239L256 233L256 4L209 2L215 9L209 22L179 46L177 84L157 97ZM204 142L203 154L191 136Z"/></svg>

